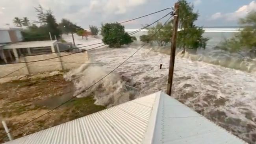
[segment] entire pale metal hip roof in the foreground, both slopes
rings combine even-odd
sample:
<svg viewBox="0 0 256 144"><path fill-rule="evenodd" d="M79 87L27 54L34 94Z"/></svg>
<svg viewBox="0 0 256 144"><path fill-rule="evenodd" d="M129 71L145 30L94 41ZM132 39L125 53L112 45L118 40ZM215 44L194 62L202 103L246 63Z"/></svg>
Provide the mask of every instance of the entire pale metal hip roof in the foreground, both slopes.
<svg viewBox="0 0 256 144"><path fill-rule="evenodd" d="M163 92L6 144L245 144Z"/></svg>

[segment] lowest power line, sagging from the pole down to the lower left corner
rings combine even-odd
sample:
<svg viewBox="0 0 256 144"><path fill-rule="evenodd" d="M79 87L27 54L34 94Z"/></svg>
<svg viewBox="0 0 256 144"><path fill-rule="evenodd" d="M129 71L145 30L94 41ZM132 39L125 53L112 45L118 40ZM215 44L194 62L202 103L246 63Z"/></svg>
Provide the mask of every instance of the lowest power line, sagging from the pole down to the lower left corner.
<svg viewBox="0 0 256 144"><path fill-rule="evenodd" d="M172 16L173 16L173 15L172 15ZM172 16L171 16L171 17L172 17ZM168 18L168 20L161 26L161 28L163 28L163 26L165 26L165 24L167 24L167 22L171 19L171 17ZM154 37L154 36L161 30L161 28L158 29L158 31L156 31L156 32L154 33L154 35L151 36L151 38ZM128 61L132 56L134 56L134 55L135 55L139 50L141 50L141 48L143 48L143 46L145 46L145 45L146 45L146 42L145 42L138 50L136 50L132 55L130 55L130 57L128 57L125 61L123 61L123 62L122 62L120 65L118 65L116 68L114 68L113 70L111 70L111 72L109 72L107 75L105 75L104 77L102 77L100 80L96 81L93 85L91 85L91 86L88 87L87 89L82 90L82 92L79 92L79 94L76 94L76 96L82 94L82 93L85 92L86 90L90 89L91 87L93 87L94 85L96 85L97 83L99 83L100 81L102 81L102 79L104 79L104 78L106 78L107 76L109 76L109 74L111 74L112 72L114 72L115 70L117 70L117 68L119 68L119 67L120 67L121 65L123 65L126 61ZM38 118L40 118L40 117L42 117L42 116L44 116L44 115L46 115L46 114L48 114L48 113L54 111L55 109L58 109L59 107L61 107L61 106L64 105L65 103L67 103L67 102L69 102L70 100L76 98L76 96L72 96L72 98L70 98L70 99L67 100L66 102L61 103L61 105L58 105L57 107L54 107L53 109L49 110L48 112L46 112L46 113L44 113L44 114L42 114L42 115L40 115L40 116L37 116L36 118L34 118L34 119L30 120L29 122L23 124L22 126L19 126L19 127L17 127L16 129L13 129L13 130L9 131L9 133L12 132L12 131L15 131L15 130L19 129L20 127L26 126L26 125L29 124L30 122L33 122L34 120L37 120Z"/></svg>

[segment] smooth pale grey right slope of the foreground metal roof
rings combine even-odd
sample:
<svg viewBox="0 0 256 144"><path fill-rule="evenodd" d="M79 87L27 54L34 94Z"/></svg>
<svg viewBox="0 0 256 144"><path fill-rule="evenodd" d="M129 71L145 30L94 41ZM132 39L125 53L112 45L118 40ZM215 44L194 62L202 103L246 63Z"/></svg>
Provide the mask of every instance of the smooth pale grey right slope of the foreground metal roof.
<svg viewBox="0 0 256 144"><path fill-rule="evenodd" d="M160 95L154 134L150 141L146 135L144 144L246 144L178 100Z"/></svg>

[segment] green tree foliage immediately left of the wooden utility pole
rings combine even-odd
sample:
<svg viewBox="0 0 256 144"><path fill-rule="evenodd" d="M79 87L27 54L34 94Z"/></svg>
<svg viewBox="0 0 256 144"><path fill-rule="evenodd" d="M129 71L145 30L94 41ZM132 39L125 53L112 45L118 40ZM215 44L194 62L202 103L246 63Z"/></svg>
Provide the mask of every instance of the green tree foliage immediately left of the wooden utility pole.
<svg viewBox="0 0 256 144"><path fill-rule="evenodd" d="M165 46L168 42L171 41L172 27L173 26L171 22L168 22L165 24L165 26L163 26L161 22L158 22L156 26L148 29L148 37L143 37L146 38L145 40L157 42L159 46Z"/></svg>

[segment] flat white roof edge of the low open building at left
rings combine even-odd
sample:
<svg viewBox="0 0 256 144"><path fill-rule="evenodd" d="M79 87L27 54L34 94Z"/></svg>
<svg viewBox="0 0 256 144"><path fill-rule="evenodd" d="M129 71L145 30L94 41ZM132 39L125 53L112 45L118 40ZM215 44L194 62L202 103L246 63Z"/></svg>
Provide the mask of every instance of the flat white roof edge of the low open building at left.
<svg viewBox="0 0 256 144"><path fill-rule="evenodd" d="M17 42L15 44L8 44L8 45L4 46L4 49L50 47L56 43L57 43L57 41Z"/></svg>

